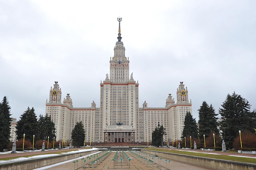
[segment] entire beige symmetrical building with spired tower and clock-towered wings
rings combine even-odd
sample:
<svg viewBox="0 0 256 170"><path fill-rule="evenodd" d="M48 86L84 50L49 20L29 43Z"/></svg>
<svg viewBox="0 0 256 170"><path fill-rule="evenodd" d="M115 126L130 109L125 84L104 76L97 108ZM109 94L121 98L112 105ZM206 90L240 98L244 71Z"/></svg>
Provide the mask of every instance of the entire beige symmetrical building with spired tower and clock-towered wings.
<svg viewBox="0 0 256 170"><path fill-rule="evenodd" d="M57 140L70 140L76 122L82 121L86 142L151 141L152 132L160 124L166 128L164 141L180 139L187 111L192 113L188 90L183 82L177 88L177 102L169 94L164 108L149 108L146 101L139 107L139 83L129 73L129 58L121 42L119 21L118 41L110 57L110 74L100 83L100 104L90 108L74 108L70 94L61 102L58 82L49 91L45 114L52 117Z"/></svg>

